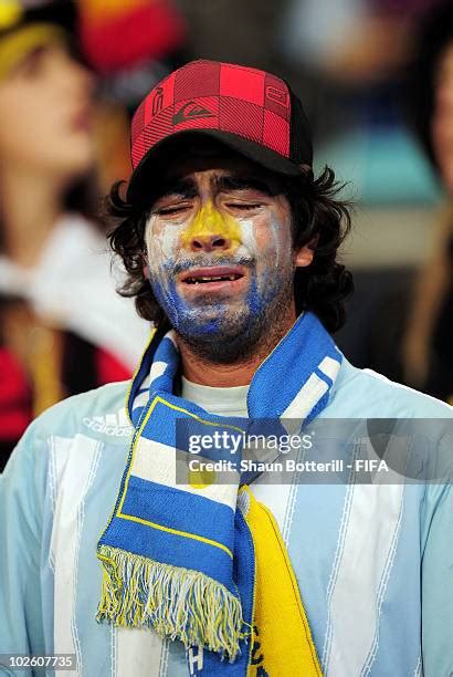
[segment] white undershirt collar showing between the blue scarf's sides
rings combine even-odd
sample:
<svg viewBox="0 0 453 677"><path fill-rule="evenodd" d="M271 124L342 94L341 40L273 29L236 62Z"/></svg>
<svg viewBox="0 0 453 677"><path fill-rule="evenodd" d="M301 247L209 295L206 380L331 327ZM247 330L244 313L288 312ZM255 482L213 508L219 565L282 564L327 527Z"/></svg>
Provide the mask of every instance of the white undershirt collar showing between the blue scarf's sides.
<svg viewBox="0 0 453 677"><path fill-rule="evenodd" d="M181 397L218 416L246 418L249 387L213 388L181 377Z"/></svg>

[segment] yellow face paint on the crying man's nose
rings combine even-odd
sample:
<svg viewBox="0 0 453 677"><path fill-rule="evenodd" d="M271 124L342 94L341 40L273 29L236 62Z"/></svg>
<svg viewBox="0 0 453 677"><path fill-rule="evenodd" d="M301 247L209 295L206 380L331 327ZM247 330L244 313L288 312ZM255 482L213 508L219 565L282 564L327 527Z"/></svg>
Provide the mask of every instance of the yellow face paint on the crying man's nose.
<svg viewBox="0 0 453 677"><path fill-rule="evenodd" d="M242 244L240 223L232 216L215 209L210 200L181 232L181 242L189 248L193 240L203 240L212 236L227 240L230 243L228 251L235 251ZM223 249L218 253L224 254L224 252Z"/></svg>

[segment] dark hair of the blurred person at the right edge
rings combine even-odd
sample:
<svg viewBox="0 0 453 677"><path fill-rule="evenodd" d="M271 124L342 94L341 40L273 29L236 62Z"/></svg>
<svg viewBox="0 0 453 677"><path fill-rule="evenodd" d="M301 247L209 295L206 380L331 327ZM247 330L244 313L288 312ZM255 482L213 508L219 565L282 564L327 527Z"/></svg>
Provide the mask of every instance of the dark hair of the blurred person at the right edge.
<svg viewBox="0 0 453 677"><path fill-rule="evenodd" d="M431 122L439 61L449 44L453 44L453 3L452 0L441 0L420 19L407 82L409 123L436 170L440 168L432 143Z"/></svg>

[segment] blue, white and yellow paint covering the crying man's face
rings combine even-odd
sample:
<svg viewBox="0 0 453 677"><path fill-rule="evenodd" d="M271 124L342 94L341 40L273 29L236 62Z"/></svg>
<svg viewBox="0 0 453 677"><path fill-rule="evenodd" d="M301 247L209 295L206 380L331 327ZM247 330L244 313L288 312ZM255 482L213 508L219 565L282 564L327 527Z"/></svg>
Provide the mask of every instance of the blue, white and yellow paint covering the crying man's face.
<svg viewBox="0 0 453 677"><path fill-rule="evenodd" d="M193 217L190 209L151 215L146 231L150 283L181 336L201 344L215 340L224 352L240 337L250 342L278 304L287 306L295 269L291 221L288 212L274 211L235 218L209 200ZM188 281L199 269L207 277L206 269L215 277L234 269L241 277L217 285Z"/></svg>

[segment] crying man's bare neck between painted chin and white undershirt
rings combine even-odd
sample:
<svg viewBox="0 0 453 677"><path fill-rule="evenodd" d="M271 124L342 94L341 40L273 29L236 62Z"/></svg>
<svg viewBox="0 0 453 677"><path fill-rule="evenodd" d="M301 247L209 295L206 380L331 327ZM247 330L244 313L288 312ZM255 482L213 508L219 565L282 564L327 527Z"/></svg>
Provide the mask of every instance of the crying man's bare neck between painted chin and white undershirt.
<svg viewBox="0 0 453 677"><path fill-rule="evenodd" d="M276 323L266 334L265 341L256 346L253 355L246 360L239 360L230 364L219 364L203 360L181 336L177 336L178 348L181 355L182 375L192 383L214 388L231 388L249 385L259 366L272 353L296 321L294 311L287 322ZM221 338L219 338L220 341Z"/></svg>

